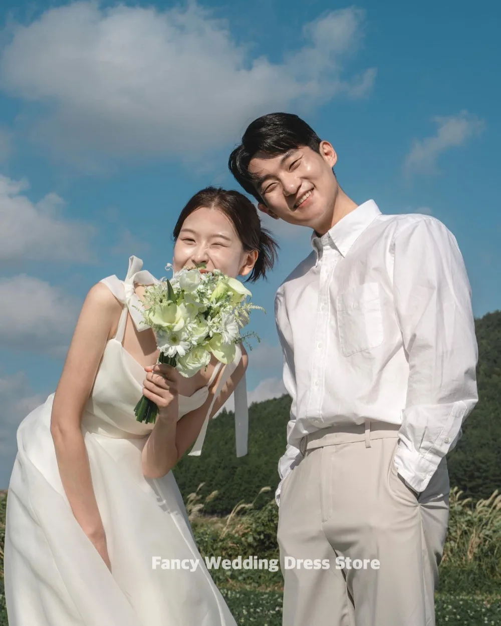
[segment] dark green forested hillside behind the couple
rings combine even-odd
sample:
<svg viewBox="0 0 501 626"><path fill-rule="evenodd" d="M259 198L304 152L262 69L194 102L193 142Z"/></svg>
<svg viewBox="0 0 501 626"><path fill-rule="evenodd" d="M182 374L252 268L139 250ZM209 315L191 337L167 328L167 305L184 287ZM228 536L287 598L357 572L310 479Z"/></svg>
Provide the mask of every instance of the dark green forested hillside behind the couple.
<svg viewBox="0 0 501 626"><path fill-rule="evenodd" d="M479 401L447 460L451 486L477 500L501 489L501 312L475 324ZM185 456L174 469L183 495L205 482L200 495L219 492L205 506L215 515L229 513L240 500L252 501L262 486L271 491L259 496L261 503L270 500L278 484L277 463L286 446L290 406L289 396L250 406L249 453L240 459L235 458L234 415L220 414L209 426L202 455Z"/></svg>

